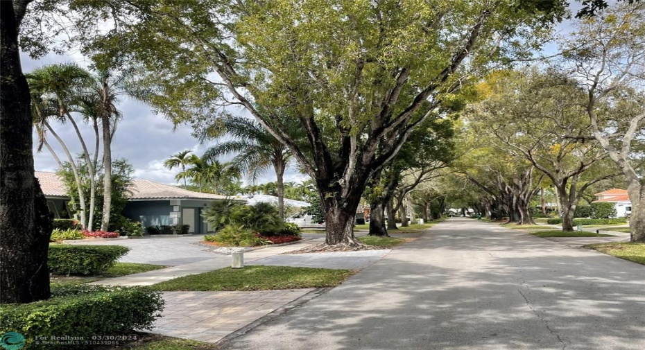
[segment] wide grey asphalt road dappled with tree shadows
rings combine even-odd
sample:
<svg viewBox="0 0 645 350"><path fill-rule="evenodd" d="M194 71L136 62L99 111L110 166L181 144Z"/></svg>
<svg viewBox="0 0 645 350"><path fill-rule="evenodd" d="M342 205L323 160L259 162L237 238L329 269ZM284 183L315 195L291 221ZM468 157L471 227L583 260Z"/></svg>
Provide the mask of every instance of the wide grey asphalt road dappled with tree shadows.
<svg viewBox="0 0 645 350"><path fill-rule="evenodd" d="M223 349L645 349L645 266L453 218Z"/></svg>

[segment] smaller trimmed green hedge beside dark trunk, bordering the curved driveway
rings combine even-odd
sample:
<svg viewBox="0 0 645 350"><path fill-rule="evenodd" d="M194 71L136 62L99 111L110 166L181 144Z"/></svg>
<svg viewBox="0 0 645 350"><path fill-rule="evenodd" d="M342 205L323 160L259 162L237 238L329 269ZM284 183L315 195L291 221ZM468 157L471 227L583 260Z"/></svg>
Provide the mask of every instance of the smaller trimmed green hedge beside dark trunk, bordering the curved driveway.
<svg viewBox="0 0 645 350"><path fill-rule="evenodd" d="M49 245L49 271L91 274L114 265L130 248L120 245Z"/></svg>

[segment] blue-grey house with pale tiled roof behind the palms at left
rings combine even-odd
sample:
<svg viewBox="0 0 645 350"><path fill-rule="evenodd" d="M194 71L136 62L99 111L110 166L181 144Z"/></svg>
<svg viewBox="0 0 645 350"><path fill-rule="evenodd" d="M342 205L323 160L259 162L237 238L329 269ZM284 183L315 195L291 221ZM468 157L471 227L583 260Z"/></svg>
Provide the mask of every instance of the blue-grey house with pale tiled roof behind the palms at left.
<svg viewBox="0 0 645 350"><path fill-rule="evenodd" d="M55 173L36 172L40 186L47 200L49 210L55 218L67 211L69 201L65 184ZM198 193L150 180L132 180L130 200L123 209L123 216L137 220L144 227L155 225L189 225L189 233L205 234L212 228L201 213L211 202L227 198L225 195Z"/></svg>

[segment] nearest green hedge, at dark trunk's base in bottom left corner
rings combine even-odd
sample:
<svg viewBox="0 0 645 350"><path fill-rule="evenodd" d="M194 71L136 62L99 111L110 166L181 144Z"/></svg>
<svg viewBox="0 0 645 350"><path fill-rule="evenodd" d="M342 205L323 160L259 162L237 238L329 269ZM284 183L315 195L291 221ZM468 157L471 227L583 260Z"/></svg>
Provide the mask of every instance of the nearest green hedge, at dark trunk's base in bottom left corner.
<svg viewBox="0 0 645 350"><path fill-rule="evenodd" d="M163 306L160 293L148 288L52 288L49 300L1 306L0 333L21 333L24 349L94 349L97 337L119 340L134 329L151 329Z"/></svg>

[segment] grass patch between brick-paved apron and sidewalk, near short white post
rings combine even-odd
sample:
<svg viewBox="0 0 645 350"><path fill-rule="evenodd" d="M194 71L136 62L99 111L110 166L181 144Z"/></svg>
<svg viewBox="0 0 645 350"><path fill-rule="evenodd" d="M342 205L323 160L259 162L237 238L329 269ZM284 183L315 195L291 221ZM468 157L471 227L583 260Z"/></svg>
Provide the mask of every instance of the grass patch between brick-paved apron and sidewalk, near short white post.
<svg viewBox="0 0 645 350"><path fill-rule="evenodd" d="M352 270L291 268L288 266L246 266L223 268L203 274L191 274L153 285L157 290L273 290L291 288L335 287Z"/></svg>

